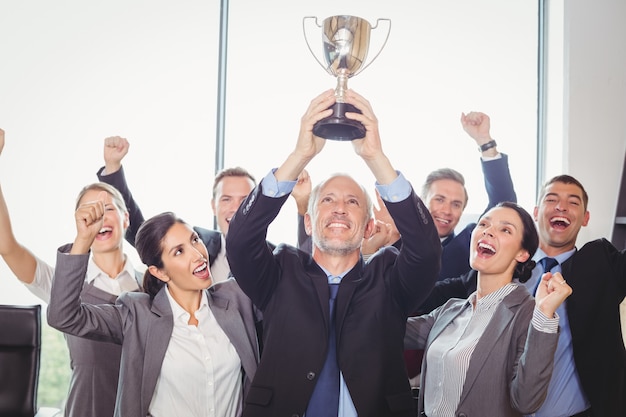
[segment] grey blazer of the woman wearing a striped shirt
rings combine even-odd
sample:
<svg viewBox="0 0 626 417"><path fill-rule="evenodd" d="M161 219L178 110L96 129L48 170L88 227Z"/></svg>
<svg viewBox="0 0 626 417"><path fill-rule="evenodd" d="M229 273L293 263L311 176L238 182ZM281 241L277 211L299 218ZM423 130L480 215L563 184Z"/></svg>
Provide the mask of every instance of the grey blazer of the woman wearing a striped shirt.
<svg viewBox="0 0 626 417"><path fill-rule="evenodd" d="M427 315L407 321L405 347L428 348L463 310L467 300L451 299ZM558 333L545 333L530 325L535 300L519 286L498 305L476 345L457 416L521 416L535 412L546 398L552 377ZM428 372L422 362L421 386ZM424 398L419 399L424 411Z"/></svg>

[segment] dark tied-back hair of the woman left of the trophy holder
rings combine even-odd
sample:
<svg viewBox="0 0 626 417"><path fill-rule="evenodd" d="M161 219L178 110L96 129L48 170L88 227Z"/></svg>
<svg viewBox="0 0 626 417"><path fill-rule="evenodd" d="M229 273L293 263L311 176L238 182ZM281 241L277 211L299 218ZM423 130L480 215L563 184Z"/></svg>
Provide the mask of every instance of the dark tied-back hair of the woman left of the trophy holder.
<svg viewBox="0 0 626 417"><path fill-rule="evenodd" d="M166 211L151 217L139 227L135 238L135 248L141 262L146 266L163 268L163 238L176 223L186 224L171 211ZM154 298L164 285L163 281L146 269L143 275L143 290L150 294L150 298Z"/></svg>

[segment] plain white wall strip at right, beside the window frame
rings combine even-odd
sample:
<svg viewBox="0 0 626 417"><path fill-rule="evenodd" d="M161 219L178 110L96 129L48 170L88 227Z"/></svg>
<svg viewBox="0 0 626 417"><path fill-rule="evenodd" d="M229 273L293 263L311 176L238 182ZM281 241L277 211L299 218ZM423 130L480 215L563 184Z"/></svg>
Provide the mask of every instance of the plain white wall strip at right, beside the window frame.
<svg viewBox="0 0 626 417"><path fill-rule="evenodd" d="M626 152L626 2L564 2L563 172L590 198L579 242L611 238Z"/></svg>

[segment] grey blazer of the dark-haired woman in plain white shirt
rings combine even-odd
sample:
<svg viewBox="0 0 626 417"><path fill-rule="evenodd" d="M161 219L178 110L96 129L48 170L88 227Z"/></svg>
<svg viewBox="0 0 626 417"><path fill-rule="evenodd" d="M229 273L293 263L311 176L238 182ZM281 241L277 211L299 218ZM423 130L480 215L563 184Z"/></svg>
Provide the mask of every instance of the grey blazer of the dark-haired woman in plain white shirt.
<svg viewBox="0 0 626 417"><path fill-rule="evenodd" d="M89 255L57 254L48 323L65 333L122 345L116 417L145 417L174 327L165 290L154 299L146 293L124 293L115 305L81 304L80 292ZM259 350L253 306L228 280L207 291L209 307L237 350L244 371L243 395L256 372Z"/></svg>

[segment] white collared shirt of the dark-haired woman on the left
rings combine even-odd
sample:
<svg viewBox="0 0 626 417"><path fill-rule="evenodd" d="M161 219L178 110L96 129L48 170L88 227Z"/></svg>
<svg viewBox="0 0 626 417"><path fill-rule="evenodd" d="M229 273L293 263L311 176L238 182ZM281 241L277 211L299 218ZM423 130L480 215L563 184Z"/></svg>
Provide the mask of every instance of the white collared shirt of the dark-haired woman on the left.
<svg viewBox="0 0 626 417"><path fill-rule="evenodd" d="M174 328L150 403L153 417L235 417L242 410L241 360L209 308L202 292L190 315L165 289Z"/></svg>

